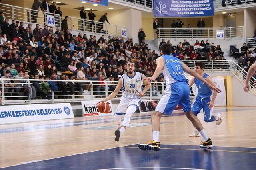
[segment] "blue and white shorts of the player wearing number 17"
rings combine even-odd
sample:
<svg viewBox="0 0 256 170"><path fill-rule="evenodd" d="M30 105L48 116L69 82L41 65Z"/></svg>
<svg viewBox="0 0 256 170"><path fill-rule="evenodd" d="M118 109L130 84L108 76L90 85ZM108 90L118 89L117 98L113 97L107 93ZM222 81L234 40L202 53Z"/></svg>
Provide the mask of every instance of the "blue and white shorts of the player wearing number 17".
<svg viewBox="0 0 256 170"><path fill-rule="evenodd" d="M172 114L178 104L185 113L191 111L190 88L187 82L175 82L166 86L164 94L157 104L156 111Z"/></svg>

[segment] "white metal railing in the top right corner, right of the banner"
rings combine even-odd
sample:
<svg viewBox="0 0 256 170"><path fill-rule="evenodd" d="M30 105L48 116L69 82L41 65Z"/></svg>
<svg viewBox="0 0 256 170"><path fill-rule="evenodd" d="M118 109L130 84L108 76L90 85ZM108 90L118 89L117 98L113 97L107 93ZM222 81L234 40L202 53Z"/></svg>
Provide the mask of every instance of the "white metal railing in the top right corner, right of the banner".
<svg viewBox="0 0 256 170"><path fill-rule="evenodd" d="M256 5L256 0L214 0L214 9Z"/></svg>

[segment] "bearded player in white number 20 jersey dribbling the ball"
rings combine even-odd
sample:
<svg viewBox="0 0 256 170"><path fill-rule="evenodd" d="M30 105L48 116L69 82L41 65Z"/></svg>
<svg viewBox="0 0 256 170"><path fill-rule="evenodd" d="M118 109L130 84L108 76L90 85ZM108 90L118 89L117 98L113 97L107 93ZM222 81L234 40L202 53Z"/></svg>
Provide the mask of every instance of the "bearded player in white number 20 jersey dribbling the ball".
<svg viewBox="0 0 256 170"><path fill-rule="evenodd" d="M115 141L119 141L120 136L124 133L125 129L130 123L131 115L138 109L140 105L140 98L150 88L151 84L146 80L146 76L139 72L134 72L135 64L132 61L126 63L127 73L122 75L114 92L112 92L107 98L100 102L106 102L116 97L122 88L122 98L116 109L114 115L114 123L118 125L118 129L115 131ZM141 91L142 84L145 84L143 91ZM97 104L99 104L98 102ZM121 122L122 115L124 115L124 121Z"/></svg>

